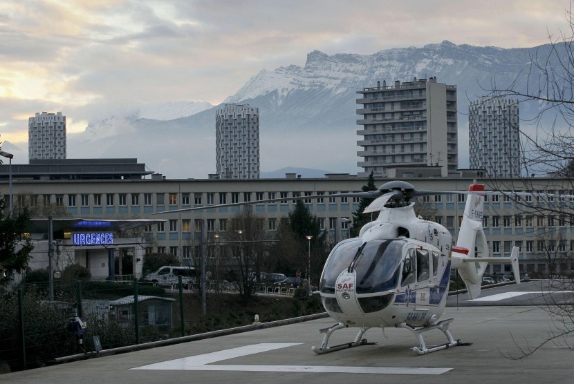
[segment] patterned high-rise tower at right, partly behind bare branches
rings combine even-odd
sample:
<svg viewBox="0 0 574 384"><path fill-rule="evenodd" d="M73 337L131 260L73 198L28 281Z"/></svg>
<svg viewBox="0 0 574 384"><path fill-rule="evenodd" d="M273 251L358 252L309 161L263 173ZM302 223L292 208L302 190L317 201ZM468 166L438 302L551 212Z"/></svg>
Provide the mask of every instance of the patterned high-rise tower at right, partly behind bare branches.
<svg viewBox="0 0 574 384"><path fill-rule="evenodd" d="M520 177L518 100L481 97L468 106L470 168L490 177Z"/></svg>

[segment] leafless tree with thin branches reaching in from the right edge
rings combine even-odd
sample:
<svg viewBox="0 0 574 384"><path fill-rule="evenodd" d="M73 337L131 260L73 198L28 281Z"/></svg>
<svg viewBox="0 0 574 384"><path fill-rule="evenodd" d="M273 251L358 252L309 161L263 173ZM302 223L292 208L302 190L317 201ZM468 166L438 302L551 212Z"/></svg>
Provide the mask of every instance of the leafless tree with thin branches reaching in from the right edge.
<svg viewBox="0 0 574 384"><path fill-rule="evenodd" d="M523 169L520 180L490 180L499 191L526 191L538 195L505 195L521 209L517 222L544 220L545 226L525 233L536 246L538 258L544 260L550 280L541 287L571 291L571 251L566 232L557 227L573 225L573 198L563 196L574 191L574 18L572 8L565 12L569 30L548 36L549 44L538 47L530 62L511 84L492 80L489 97L517 99L521 108L521 156ZM516 127L518 128L518 127ZM539 175L552 175L541 184ZM550 181L549 181L550 180ZM519 221L520 220L520 221ZM557 220L559 223L555 223ZM548 286L546 286L548 284ZM530 356L547 343L574 350L574 302L571 296L555 299L547 296L545 309L553 318L553 328L546 340L521 349L517 358Z"/></svg>

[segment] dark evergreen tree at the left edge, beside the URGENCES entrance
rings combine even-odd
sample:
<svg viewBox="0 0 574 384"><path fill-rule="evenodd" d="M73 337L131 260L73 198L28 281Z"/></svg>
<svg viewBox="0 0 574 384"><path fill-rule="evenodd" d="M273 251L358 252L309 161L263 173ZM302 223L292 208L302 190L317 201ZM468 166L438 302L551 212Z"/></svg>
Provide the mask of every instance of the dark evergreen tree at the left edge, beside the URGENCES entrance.
<svg viewBox="0 0 574 384"><path fill-rule="evenodd" d="M34 249L30 238L24 237L30 220L28 209L5 217L5 206L4 199L0 199L0 285L6 285L15 273L28 267Z"/></svg>

